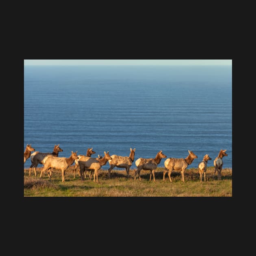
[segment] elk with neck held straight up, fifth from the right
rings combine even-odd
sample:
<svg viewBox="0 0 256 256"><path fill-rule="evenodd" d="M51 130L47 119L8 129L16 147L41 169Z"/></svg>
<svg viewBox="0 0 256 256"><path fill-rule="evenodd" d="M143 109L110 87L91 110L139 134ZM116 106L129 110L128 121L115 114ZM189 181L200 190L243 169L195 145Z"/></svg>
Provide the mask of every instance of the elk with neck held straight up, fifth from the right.
<svg viewBox="0 0 256 256"><path fill-rule="evenodd" d="M111 156L112 160L108 160L108 163L110 165L110 168L108 169L108 177L110 178L111 170L114 167L118 167L118 168L125 168L127 178L129 178L129 171L130 171L130 167L132 166L132 162L134 161L134 156L135 156L135 148L133 150L132 148L130 148L129 156L112 155Z"/></svg>

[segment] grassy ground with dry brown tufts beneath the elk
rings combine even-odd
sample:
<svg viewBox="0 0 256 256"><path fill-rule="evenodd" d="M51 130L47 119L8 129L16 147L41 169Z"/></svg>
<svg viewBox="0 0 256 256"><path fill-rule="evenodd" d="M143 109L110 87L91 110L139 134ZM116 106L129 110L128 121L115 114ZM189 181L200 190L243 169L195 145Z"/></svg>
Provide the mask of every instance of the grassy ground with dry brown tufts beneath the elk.
<svg viewBox="0 0 256 256"><path fill-rule="evenodd" d="M24 169L24 197L232 197L232 169L222 169L221 180L217 180L214 167L208 167L206 182L200 182L197 168L185 171L185 182L181 181L180 171L173 171L172 182L166 174L163 181L163 167L156 169L156 182L150 181L150 171L141 171L141 181L134 180L136 169L130 170L130 178L126 178L124 169L113 169L111 178L107 170L100 170L98 183L89 180L87 172L85 181L82 181L74 166L69 167L65 174L65 182L61 181L61 171L54 170L52 180L44 173L40 179L42 167L37 168L37 177L34 172L28 176L29 169Z"/></svg>

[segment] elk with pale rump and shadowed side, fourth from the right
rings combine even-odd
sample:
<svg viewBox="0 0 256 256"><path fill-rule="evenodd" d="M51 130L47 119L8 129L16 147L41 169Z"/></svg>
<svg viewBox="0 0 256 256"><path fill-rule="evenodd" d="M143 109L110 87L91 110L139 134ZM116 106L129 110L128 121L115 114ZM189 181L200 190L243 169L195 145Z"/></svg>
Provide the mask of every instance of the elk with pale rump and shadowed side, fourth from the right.
<svg viewBox="0 0 256 256"><path fill-rule="evenodd" d="M135 161L135 165L137 166L137 171L134 175L134 180L136 180L136 175L139 175L139 180L141 180L141 170L148 170L150 171L150 180L151 176L153 174L153 179L155 181L155 171L157 165L161 162L162 158L166 158L165 154L162 153L162 150L160 150L155 158L139 158Z"/></svg>

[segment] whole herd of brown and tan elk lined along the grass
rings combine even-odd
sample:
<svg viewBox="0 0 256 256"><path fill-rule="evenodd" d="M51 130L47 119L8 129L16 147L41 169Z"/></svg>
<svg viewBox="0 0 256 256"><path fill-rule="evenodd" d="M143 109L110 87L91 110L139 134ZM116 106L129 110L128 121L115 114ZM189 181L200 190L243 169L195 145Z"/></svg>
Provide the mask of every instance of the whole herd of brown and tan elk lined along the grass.
<svg viewBox="0 0 256 256"><path fill-rule="evenodd" d="M95 154L93 148L88 148L86 155L77 155L77 151L71 151L71 155L66 157L59 157L59 152L63 152L59 145L54 145L52 153L42 153L39 151L35 151L35 148L32 148L31 144L26 145L26 149L24 151L24 163L27 161L28 158L31 160L31 165L29 168L29 176L32 168L34 169L35 176L37 176L36 168L38 164L43 165L41 169L40 178L42 174L47 171L48 177L51 180L52 176L52 169L60 169L62 174L62 182L65 182L65 171L68 167L70 167L73 163L75 163L74 167L74 178L75 172L78 169L78 174L81 180L85 180L86 178L86 171L89 172L89 179L91 180L93 174L93 181L98 182L98 171L103 165L109 163L108 169L108 177L111 177L111 170L115 167L117 168L125 168L126 169L126 176L129 178L129 171L130 167L135 158L135 148L130 148L130 155L129 156L118 156L118 155L109 155L109 152L104 151L104 156L98 155L98 157L94 158L91 157L92 154ZM31 153L33 152L33 153ZM218 180L221 180L221 170L223 167L223 156L228 156L226 150L220 150L218 156L213 161L214 164L214 175L217 171ZM162 158L167 158L165 154L163 154L162 150L160 150L155 158L138 158L135 161L135 165L137 170L135 171L134 180L136 180L136 176L139 176L139 180L141 180L140 172L141 170L148 170L150 171L150 180L153 175L153 180L155 181L155 171L158 164L161 162ZM166 173L168 174L169 180L171 181L171 172L172 171L180 171L181 172L181 180L184 180L184 171L187 169L188 165L191 165L194 159L197 156L189 150L189 155L186 158L167 158L165 160L165 169L163 171L163 180L165 180ZM200 182L202 182L202 176L204 174L204 181L206 181L206 168L207 162L212 160L208 154L206 154L202 160L198 164L198 170L200 174Z"/></svg>

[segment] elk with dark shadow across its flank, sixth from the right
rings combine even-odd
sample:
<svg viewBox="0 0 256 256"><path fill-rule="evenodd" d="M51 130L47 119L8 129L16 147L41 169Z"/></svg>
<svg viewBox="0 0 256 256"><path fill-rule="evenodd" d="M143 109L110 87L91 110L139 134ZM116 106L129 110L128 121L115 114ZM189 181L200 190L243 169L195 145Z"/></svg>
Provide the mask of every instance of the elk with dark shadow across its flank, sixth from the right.
<svg viewBox="0 0 256 256"><path fill-rule="evenodd" d="M95 182L95 176L96 176L96 181L98 182L98 170L103 165L106 165L108 160L112 160L112 158L108 154L108 152L106 153L105 151L104 151L103 158L100 158L100 159L99 158L98 159L97 158L92 158L92 157L89 157L89 156L82 156L78 160L78 165L80 167L80 177L81 177L81 179L85 180L84 172L85 172L85 169L87 169L87 170L94 171L93 182Z"/></svg>

